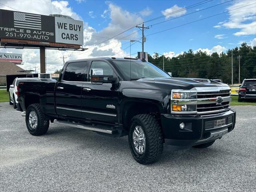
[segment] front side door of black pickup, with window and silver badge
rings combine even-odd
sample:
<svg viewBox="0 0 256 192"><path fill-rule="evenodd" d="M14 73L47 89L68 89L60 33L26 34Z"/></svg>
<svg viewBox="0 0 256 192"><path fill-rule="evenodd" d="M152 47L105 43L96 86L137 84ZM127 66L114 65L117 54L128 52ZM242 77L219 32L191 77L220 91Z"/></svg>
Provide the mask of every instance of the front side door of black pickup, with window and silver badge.
<svg viewBox="0 0 256 192"><path fill-rule="evenodd" d="M91 75L113 75L117 77L113 66L106 60L92 60L88 70L87 82L82 85L82 118L116 123L118 122L119 87L111 83L92 83Z"/></svg>

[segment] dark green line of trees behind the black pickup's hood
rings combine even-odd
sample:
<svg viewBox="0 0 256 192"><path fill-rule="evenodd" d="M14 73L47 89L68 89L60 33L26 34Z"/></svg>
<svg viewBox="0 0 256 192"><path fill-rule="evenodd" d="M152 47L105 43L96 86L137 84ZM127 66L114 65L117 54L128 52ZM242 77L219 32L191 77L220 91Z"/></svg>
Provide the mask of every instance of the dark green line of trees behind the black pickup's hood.
<svg viewBox="0 0 256 192"><path fill-rule="evenodd" d="M256 46L251 47L243 43L239 48L233 48L221 54L188 50L177 57L164 58L164 70L172 72L173 77L222 79L231 84L231 59L233 51L233 83L238 83L238 68L240 55L240 82L244 78L256 78ZM148 54L148 62L163 68L163 56L155 53Z"/></svg>

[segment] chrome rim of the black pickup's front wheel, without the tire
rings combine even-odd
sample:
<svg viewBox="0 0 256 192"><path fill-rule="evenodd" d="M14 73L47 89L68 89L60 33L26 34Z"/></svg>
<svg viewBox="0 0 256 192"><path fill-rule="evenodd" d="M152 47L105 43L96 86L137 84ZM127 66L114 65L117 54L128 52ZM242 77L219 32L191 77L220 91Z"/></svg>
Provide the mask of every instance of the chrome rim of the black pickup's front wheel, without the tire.
<svg viewBox="0 0 256 192"><path fill-rule="evenodd" d="M146 149L146 138L141 126L136 126L132 133L133 145L138 154L143 154Z"/></svg>

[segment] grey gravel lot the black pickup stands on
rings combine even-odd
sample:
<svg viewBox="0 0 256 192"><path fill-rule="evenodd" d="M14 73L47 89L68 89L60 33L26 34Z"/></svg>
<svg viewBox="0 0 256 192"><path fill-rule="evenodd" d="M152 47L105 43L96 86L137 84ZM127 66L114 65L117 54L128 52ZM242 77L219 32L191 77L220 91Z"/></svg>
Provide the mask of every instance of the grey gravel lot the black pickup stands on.
<svg viewBox="0 0 256 192"><path fill-rule="evenodd" d="M234 106L236 128L205 149L140 165L127 137L50 124L32 136L0 103L0 191L256 191L256 106Z"/></svg>

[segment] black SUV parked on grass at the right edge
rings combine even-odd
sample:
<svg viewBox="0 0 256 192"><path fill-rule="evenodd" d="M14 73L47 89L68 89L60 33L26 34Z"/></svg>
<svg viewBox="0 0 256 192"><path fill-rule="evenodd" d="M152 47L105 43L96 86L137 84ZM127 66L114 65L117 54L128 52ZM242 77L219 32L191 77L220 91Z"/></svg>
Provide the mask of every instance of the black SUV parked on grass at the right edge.
<svg viewBox="0 0 256 192"><path fill-rule="evenodd" d="M238 91L238 102L256 99L256 79L244 79Z"/></svg>

